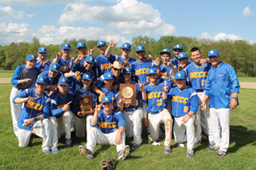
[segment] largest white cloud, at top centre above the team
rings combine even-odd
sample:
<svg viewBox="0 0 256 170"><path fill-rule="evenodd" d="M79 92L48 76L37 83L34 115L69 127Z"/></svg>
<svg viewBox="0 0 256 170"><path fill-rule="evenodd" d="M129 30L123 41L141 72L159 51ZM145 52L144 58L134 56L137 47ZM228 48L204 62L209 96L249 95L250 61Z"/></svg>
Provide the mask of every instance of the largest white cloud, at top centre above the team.
<svg viewBox="0 0 256 170"><path fill-rule="evenodd" d="M101 22L122 34L146 32L171 35L176 33L175 27L165 24L165 21L160 18L160 12L154 10L151 4L137 0L122 0L109 7L69 3L57 23L65 25L79 21Z"/></svg>

